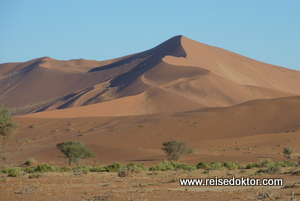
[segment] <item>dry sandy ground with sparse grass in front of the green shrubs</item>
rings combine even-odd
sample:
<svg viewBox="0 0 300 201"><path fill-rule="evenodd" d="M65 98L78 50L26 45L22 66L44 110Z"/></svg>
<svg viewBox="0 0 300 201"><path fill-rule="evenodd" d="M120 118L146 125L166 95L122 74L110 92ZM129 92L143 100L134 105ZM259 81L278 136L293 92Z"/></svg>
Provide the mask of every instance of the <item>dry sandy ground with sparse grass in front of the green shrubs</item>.
<svg viewBox="0 0 300 201"><path fill-rule="evenodd" d="M283 168L277 175L255 175L251 170L140 171L119 177L117 172L89 172L80 177L72 172L28 175L0 183L0 200L291 200L300 198L295 168ZM298 170L297 170L298 171ZM290 172L290 174L283 174ZM180 186L179 178L283 178L285 186Z"/></svg>

